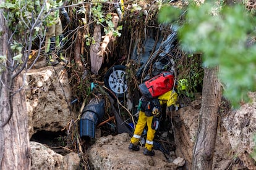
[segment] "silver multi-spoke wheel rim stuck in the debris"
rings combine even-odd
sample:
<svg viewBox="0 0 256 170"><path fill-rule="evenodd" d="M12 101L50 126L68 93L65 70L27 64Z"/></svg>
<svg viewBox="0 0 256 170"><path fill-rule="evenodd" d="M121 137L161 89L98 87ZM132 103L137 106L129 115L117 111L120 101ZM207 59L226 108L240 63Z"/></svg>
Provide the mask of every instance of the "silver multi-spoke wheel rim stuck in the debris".
<svg viewBox="0 0 256 170"><path fill-rule="evenodd" d="M123 94L127 91L126 72L123 70L114 70L108 78L108 84L111 91L115 94Z"/></svg>

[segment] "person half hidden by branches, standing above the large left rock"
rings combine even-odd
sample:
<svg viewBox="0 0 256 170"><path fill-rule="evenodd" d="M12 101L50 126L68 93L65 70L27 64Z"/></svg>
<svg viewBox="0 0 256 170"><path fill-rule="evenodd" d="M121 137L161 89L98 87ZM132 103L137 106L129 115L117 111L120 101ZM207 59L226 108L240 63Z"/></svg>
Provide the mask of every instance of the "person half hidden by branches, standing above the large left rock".
<svg viewBox="0 0 256 170"><path fill-rule="evenodd" d="M56 9L61 7L60 9ZM60 60L64 60L62 56L62 52L60 52L61 48L63 47L63 29L61 24L61 18L59 13L66 18L66 23L70 23L69 15L65 10L62 0L46 0L46 9L47 11L51 9L52 12L49 13L47 20L47 28L46 28L46 38L45 38L45 53L48 56L47 63L49 65L56 65L59 62L54 60L53 55L58 56Z"/></svg>

